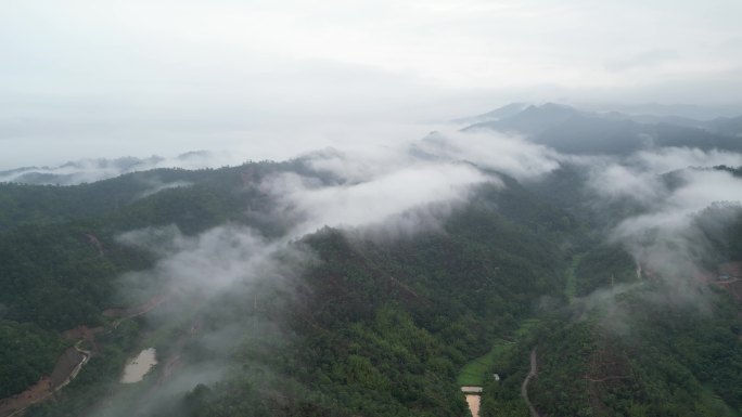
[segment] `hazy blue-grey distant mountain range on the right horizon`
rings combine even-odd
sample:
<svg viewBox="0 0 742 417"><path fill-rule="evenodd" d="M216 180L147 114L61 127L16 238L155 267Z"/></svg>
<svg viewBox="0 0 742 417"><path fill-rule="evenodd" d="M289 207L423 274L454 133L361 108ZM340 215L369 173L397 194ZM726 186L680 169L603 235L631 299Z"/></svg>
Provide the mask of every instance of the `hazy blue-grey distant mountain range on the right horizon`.
<svg viewBox="0 0 742 417"><path fill-rule="evenodd" d="M586 112L554 103L516 110L522 106L522 103L510 104L475 116L471 120L484 121L463 130L517 133L570 154L625 155L663 146L742 151L742 116L694 120L680 116Z"/></svg>

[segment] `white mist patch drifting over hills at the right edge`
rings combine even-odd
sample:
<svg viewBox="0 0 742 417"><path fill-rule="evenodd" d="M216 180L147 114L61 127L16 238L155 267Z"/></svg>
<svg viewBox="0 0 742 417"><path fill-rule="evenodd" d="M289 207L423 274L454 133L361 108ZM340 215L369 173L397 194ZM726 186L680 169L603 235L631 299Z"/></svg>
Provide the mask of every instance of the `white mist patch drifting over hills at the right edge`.
<svg viewBox="0 0 742 417"><path fill-rule="evenodd" d="M571 161L588 172L585 195L609 225L605 240L624 248L637 270L635 283L600 288L578 308L603 311L606 328L619 334L631 328L628 307L619 301L626 294L708 313L717 265L740 261L720 252L719 243L742 221L742 178L722 168L740 167L742 155L667 147Z"/></svg>

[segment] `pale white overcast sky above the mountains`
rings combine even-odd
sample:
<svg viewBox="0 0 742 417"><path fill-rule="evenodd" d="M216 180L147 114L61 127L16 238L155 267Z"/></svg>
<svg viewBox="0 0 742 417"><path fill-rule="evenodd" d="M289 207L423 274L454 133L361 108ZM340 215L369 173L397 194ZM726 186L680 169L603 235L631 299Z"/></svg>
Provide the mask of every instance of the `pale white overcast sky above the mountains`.
<svg viewBox="0 0 742 417"><path fill-rule="evenodd" d="M510 101L739 103L740 17L739 0L2 1L0 168L286 157Z"/></svg>

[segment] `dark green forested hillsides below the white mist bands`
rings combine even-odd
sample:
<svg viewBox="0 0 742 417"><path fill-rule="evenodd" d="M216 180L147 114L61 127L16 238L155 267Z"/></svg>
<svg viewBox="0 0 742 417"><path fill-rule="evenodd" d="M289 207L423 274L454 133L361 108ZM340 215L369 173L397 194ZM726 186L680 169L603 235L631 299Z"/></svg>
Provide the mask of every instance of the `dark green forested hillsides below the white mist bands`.
<svg viewBox="0 0 742 417"><path fill-rule="evenodd" d="M281 270L259 270L265 279L210 296L178 289L156 320L102 314L146 301L121 298L117 279L162 260L124 244L121 232L174 224L200 236L227 224L272 242L290 227L277 201L243 181L260 170L306 168L157 172L192 185L124 205L102 197L94 212L74 201L95 184L8 186L5 207L35 193L66 203L16 210L0 233L0 318L10 335L0 355L15 359L3 363L14 377L0 379L2 392L48 375L69 344L62 331L86 325L102 329L86 342L90 363L27 416L99 407L106 416L461 416L461 385L484 387L483 416L527 416L521 385L534 348L529 396L552 416L740 415L741 327L730 296L704 291L700 310L655 304L663 282L640 281L622 247L507 177L506 187L477 187L439 227L394 237L325 227L271 255ZM141 188L124 191L130 179L102 183L131 196ZM708 262L733 259L739 236L716 234L703 217L699 227L724 253ZM621 285L632 289L586 308L581 297ZM631 330L614 326L617 317ZM162 362L152 376L118 383L126 357L152 346ZM191 375L195 388L159 395L170 374Z"/></svg>

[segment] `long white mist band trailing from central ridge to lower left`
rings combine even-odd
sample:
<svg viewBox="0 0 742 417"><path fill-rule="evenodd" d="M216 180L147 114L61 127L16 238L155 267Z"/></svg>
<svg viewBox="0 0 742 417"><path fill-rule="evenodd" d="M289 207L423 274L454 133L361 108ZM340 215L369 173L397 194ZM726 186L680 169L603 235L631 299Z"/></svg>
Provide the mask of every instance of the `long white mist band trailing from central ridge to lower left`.
<svg viewBox="0 0 742 417"><path fill-rule="evenodd" d="M158 261L151 270L123 275L119 299L141 303L152 297L166 298L162 307L148 314L144 333L169 335L167 342L157 346L159 366L177 363L171 379L158 380L158 388L138 405L139 411L165 406L179 392L199 383L228 378L233 368L228 364L239 346L270 349L290 338L264 311L266 300L291 299L291 292L300 287L302 271L314 262L314 255L300 243L303 236L324 226L354 230L373 238L435 231L451 210L468 200L472 187L483 183L504 186L492 170L533 178L556 166L545 156L548 149L516 138L476 134L456 142L438 133L434 141L422 143L314 152L297 159L314 175L276 172L245 184L260 190L271 201L271 212L266 216L281 219L285 232L279 236L267 237L238 223L195 236L187 236L174 225L120 234L120 244L146 249ZM488 144L501 144L501 159L488 158L487 170L464 158L477 155L476 149ZM516 167L516 160L524 166ZM226 313L226 305L231 303L247 305L250 316ZM268 334L272 341L260 344ZM199 354L187 354L193 351ZM120 395L91 415L129 413L124 399L127 393Z"/></svg>

